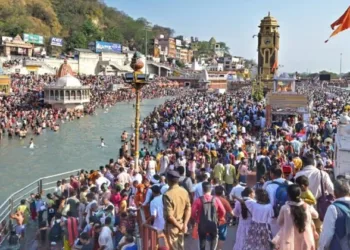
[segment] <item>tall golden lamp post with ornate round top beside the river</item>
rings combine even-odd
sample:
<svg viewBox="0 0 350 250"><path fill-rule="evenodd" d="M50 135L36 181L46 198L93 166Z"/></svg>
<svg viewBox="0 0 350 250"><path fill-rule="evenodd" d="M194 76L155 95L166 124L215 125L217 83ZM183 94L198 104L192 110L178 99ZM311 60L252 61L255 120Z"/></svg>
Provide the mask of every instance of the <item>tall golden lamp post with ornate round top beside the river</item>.
<svg viewBox="0 0 350 250"><path fill-rule="evenodd" d="M147 63L147 60L146 60ZM140 94L143 86L148 84L148 74L142 73L144 63L141 60L141 54L135 52L131 59L130 67L133 73L125 74L125 82L129 83L136 94L136 112L135 112L135 170L139 171L139 138L140 138Z"/></svg>

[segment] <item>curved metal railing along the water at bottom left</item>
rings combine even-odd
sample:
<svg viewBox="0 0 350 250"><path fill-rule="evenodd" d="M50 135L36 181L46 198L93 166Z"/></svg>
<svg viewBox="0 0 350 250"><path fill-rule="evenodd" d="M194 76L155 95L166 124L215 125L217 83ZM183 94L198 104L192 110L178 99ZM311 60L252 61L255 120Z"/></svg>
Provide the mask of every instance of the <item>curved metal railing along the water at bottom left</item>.
<svg viewBox="0 0 350 250"><path fill-rule="evenodd" d="M0 225L2 228L0 231L0 245L7 239L7 236L12 230L12 220L10 219L10 215L16 211L22 199L29 198L31 193L44 194L47 191L53 190L56 188L56 183L58 180L69 180L69 177L71 175L76 175L79 173L79 171L80 169L77 169L56 175L42 177L11 194L0 205Z"/></svg>

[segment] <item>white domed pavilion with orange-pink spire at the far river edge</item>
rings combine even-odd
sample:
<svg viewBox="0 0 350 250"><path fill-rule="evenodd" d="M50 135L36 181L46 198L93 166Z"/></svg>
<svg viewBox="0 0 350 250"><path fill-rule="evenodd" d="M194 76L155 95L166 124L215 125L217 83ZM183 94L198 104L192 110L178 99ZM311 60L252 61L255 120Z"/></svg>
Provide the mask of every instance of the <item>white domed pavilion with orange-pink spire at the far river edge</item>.
<svg viewBox="0 0 350 250"><path fill-rule="evenodd" d="M71 75L70 69L65 61L57 74L57 81L44 87L44 102L53 108L84 109L84 104L90 102L90 87L83 86L79 79Z"/></svg>

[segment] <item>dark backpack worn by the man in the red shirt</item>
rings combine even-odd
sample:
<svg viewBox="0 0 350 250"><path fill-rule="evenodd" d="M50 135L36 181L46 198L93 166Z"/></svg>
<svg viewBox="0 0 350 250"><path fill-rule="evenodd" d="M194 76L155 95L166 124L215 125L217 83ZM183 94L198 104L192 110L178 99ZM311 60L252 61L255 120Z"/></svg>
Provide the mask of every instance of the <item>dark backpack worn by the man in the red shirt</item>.
<svg viewBox="0 0 350 250"><path fill-rule="evenodd" d="M215 207L215 198L211 201L206 201L203 196L199 198L202 202L202 212L200 214L200 221L198 223L199 235L213 235L218 233L218 216Z"/></svg>

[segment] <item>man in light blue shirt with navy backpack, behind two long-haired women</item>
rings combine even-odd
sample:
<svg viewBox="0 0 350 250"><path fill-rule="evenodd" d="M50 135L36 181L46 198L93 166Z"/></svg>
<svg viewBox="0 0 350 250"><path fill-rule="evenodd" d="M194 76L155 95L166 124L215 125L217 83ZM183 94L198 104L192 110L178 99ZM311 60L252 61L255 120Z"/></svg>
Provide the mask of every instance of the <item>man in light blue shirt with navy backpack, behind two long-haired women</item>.
<svg viewBox="0 0 350 250"><path fill-rule="evenodd" d="M270 204L272 206L275 206L276 202L282 202L282 201L276 200L276 198L275 198L277 189L279 187L281 187L282 185L286 185L286 184L290 185L291 184L291 182L282 178L282 175L283 175L283 171L281 168L278 168L278 167L272 168L270 170L270 178L272 181L265 182L265 184L263 186L263 189L265 189L269 195ZM279 230L279 226L277 223L278 214L275 214L275 216L276 216L276 218L272 218L270 221L271 233L273 236L275 236Z"/></svg>

